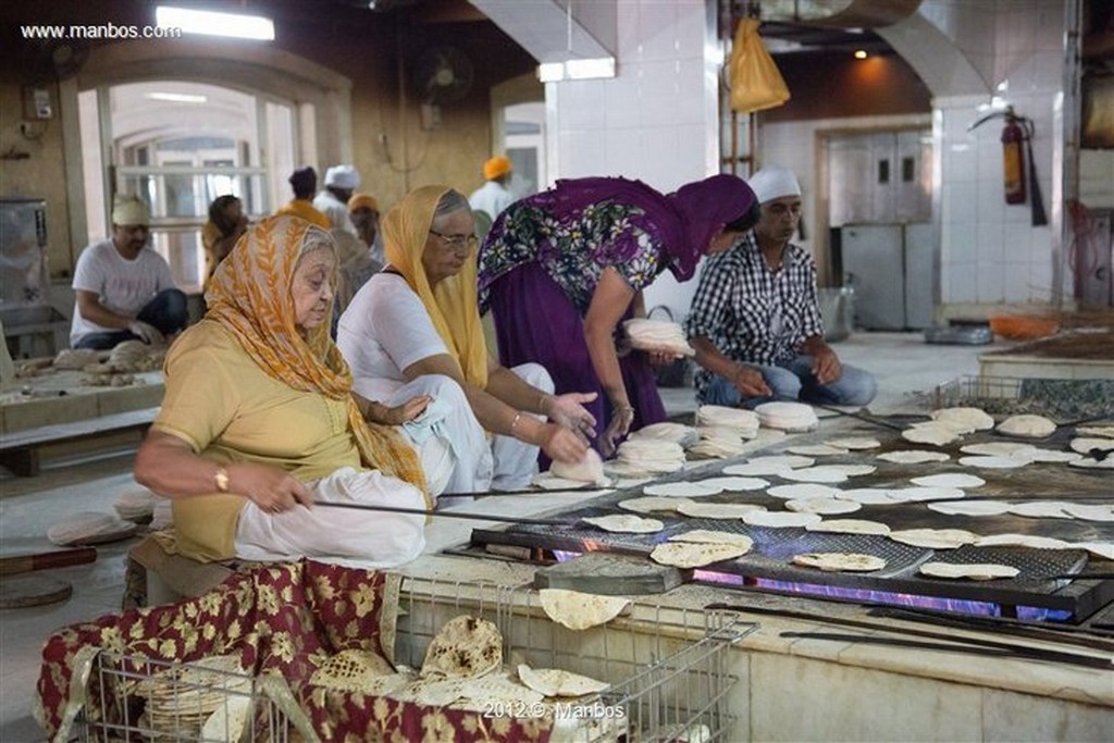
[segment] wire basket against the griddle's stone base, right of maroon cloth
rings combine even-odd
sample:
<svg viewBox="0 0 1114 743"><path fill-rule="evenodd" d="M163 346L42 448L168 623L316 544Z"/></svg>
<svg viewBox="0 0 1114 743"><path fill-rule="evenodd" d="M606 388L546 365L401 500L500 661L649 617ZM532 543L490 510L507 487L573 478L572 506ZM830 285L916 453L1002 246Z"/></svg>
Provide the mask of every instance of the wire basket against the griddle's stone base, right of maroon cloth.
<svg viewBox="0 0 1114 743"><path fill-rule="evenodd" d="M755 626L734 614L634 602L629 614L573 630L548 618L539 595L469 583L409 580L403 586L395 661L421 665L446 622L469 614L495 622L512 668L560 668L608 684L598 697L532 712L553 717L550 741L725 741L737 682L731 647Z"/></svg>

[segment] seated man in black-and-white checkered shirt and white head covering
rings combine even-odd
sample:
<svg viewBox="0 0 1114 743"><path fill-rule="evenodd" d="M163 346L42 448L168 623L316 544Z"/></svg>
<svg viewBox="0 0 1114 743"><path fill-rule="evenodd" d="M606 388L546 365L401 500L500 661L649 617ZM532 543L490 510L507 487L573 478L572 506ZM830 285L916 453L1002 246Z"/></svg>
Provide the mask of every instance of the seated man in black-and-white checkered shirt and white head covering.
<svg viewBox="0 0 1114 743"><path fill-rule="evenodd" d="M696 349L696 399L753 408L775 400L864 405L877 385L840 363L824 342L812 256L790 243L801 218L801 187L771 166L749 180L762 205L754 229L710 256L686 330Z"/></svg>

